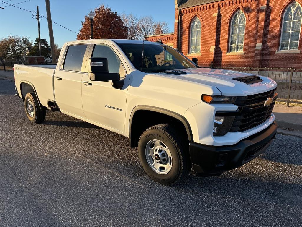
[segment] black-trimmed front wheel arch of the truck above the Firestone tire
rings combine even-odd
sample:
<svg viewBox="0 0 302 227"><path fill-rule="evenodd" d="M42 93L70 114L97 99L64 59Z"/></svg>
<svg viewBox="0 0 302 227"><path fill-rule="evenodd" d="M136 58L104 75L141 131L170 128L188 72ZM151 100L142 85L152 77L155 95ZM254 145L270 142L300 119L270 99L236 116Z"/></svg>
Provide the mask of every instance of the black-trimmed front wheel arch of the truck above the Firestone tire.
<svg viewBox="0 0 302 227"><path fill-rule="evenodd" d="M140 114L139 114L140 113ZM153 107L153 106L146 106L146 105L140 105L140 106L136 106L133 108L131 114L130 114L130 120L129 120L129 140L130 140L130 146L132 148L136 147L137 146L137 143L138 143L138 139L139 139L139 136L140 134L138 135L137 133L138 132L143 132L145 129L147 129L148 127L145 127L144 130L140 130L140 126L137 126L136 123L137 123L137 118L142 118L142 114L145 114L145 113L156 113L157 116L159 117L164 117L165 119L169 119L169 120L176 120L178 121L179 123L182 124L182 126L184 127L184 130L186 132L186 136L188 137L188 140L189 141L193 141L193 134L192 134L192 130L191 130L191 127L190 127L190 124L188 122L188 120L178 114L178 113L175 113L173 111L170 111L170 110L166 110L166 109L163 109L163 108L159 108L159 107ZM138 115L137 115L138 114ZM142 119L140 119L142 121ZM158 119L156 119L158 120ZM157 123L156 123L157 124ZM148 123L146 122L145 124L146 126L148 126ZM149 125L150 126L153 126L153 125ZM144 128L143 126L141 126L141 128Z"/></svg>

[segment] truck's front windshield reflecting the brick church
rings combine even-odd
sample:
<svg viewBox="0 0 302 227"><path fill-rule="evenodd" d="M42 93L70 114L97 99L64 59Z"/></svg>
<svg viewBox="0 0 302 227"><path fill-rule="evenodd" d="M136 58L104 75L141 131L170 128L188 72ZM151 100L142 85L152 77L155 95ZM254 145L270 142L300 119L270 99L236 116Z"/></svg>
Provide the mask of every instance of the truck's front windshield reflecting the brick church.
<svg viewBox="0 0 302 227"><path fill-rule="evenodd" d="M163 72L196 66L172 47L157 44L118 44L133 66L143 72ZM142 58L143 53L143 58ZM143 64L142 64L143 63Z"/></svg>

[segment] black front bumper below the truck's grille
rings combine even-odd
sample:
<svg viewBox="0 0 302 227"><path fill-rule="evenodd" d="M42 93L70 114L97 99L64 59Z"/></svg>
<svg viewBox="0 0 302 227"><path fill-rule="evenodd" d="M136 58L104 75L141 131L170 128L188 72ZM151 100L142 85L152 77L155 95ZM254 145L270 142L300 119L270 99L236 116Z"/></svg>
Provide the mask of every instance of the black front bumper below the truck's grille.
<svg viewBox="0 0 302 227"><path fill-rule="evenodd" d="M218 175L248 163L263 153L277 132L274 121L269 127L234 145L209 146L190 142L192 167L200 176Z"/></svg>

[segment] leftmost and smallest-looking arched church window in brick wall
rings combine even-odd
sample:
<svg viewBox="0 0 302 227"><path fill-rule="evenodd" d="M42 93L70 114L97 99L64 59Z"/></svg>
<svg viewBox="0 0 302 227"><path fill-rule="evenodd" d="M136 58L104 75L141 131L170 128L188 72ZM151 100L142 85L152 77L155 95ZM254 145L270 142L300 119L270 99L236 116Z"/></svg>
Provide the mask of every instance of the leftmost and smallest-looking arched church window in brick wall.
<svg viewBox="0 0 302 227"><path fill-rule="evenodd" d="M191 24L190 54L200 53L201 23L196 17Z"/></svg>

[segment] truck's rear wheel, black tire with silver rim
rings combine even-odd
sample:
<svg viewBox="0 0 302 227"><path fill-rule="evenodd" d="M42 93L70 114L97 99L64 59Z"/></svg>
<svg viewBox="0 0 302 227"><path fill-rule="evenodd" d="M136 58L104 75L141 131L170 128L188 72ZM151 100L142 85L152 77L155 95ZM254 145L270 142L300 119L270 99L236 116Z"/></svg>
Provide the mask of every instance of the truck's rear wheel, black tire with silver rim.
<svg viewBox="0 0 302 227"><path fill-rule="evenodd" d="M34 92L27 93L24 99L25 113L32 123L41 123L45 120L46 110L40 108L39 101Z"/></svg>

